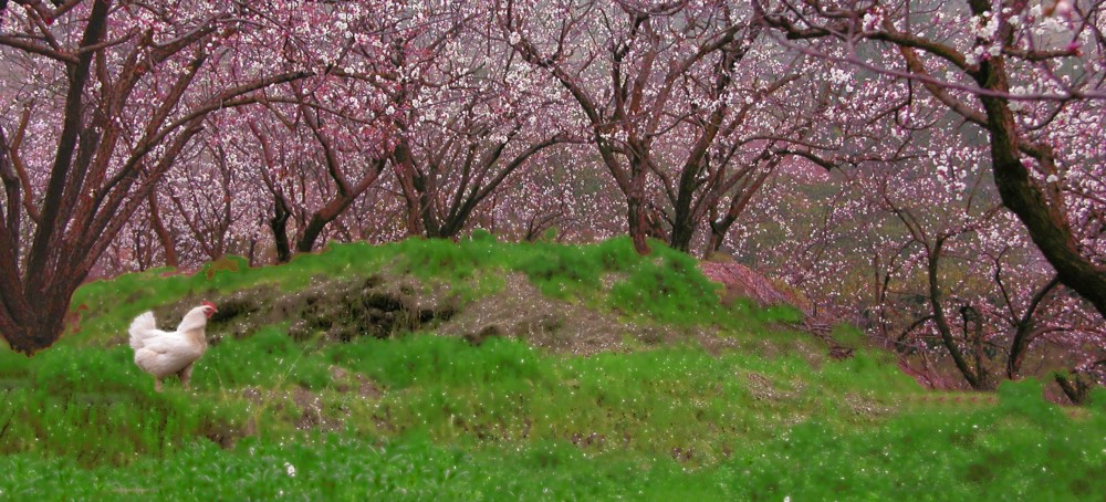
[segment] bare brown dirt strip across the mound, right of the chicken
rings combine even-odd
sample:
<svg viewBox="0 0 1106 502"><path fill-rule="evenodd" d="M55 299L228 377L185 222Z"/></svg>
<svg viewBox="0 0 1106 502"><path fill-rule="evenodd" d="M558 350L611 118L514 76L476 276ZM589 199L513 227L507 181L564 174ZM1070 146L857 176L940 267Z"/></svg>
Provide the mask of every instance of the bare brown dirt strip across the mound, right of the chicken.
<svg viewBox="0 0 1106 502"><path fill-rule="evenodd" d="M279 323L289 323L289 334L296 339L322 335L327 341L347 342L359 336L385 338L428 331L472 344L493 336L514 337L553 353L576 355L681 339L696 339L711 351L727 343L708 328L628 322L616 312L547 297L521 273L509 273L504 280L500 291L466 302L447 284L424 283L410 275L385 272L358 279L316 279L295 293L263 285L222 296L190 296L158 310L156 315L179 320L199 301L212 301L219 307L208 326L212 343L223 336L250 336Z"/></svg>

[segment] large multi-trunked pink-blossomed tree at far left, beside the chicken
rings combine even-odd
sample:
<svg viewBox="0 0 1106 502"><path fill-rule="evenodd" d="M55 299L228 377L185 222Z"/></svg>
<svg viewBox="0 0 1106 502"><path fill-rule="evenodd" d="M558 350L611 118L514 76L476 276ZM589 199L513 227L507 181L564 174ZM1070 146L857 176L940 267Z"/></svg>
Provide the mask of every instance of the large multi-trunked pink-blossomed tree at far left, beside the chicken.
<svg viewBox="0 0 1106 502"><path fill-rule="evenodd" d="M212 114L307 79L273 40L325 4L11 1L0 9L4 118L0 333L25 354L62 333L73 291Z"/></svg>

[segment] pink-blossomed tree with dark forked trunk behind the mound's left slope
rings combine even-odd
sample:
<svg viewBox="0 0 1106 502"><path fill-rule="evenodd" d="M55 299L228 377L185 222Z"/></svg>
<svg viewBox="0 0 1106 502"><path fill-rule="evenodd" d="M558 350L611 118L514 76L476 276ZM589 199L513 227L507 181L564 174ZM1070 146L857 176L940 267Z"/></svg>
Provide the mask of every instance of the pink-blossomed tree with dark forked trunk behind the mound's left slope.
<svg viewBox="0 0 1106 502"><path fill-rule="evenodd" d="M280 262L328 239L331 223L376 184L390 148L384 96L372 75L389 55L382 36L396 28L395 6L300 7L280 23L309 36L259 38L258 48L272 64L309 61L321 70L267 93L260 106L210 121L209 142L225 154L219 161L230 164L242 199L260 211L236 221L268 227Z"/></svg>

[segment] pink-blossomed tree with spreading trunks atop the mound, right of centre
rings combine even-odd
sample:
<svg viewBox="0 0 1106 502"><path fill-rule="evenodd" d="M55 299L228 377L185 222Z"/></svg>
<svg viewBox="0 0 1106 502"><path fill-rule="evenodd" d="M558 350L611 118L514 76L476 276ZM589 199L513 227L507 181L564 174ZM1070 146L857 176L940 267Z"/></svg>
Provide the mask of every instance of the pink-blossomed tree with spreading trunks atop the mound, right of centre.
<svg viewBox="0 0 1106 502"><path fill-rule="evenodd" d="M730 211L718 208L741 206L731 196L750 178L731 167L734 145L749 144L734 136L770 123L747 115L801 73L786 56L753 54L760 28L749 13L723 2L629 0L510 1L494 13L514 51L577 105L559 118L587 132L638 252L648 252L649 236L689 250L709 213L724 221ZM769 62L772 72L753 71Z"/></svg>

